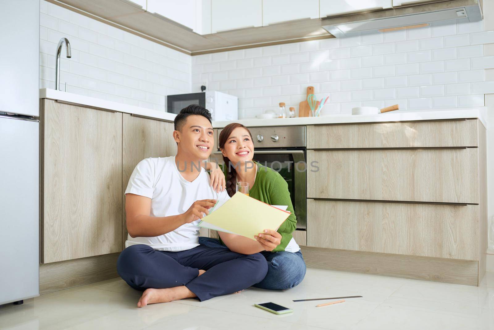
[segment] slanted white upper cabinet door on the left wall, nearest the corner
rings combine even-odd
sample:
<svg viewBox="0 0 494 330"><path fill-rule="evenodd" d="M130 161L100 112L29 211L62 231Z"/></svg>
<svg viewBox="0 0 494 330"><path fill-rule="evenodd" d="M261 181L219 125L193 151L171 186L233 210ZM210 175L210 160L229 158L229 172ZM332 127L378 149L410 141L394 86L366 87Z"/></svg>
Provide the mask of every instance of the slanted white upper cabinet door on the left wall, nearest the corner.
<svg viewBox="0 0 494 330"><path fill-rule="evenodd" d="M135 1L137 2L137 1ZM157 13L198 32L196 0L147 0L147 11ZM201 32L198 32L201 33Z"/></svg>

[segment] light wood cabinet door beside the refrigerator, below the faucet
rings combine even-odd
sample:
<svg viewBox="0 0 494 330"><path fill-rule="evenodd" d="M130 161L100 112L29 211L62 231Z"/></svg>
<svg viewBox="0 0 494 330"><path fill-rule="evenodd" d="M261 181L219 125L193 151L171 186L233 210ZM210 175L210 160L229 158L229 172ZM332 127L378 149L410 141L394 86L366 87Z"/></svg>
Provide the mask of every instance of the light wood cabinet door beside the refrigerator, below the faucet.
<svg viewBox="0 0 494 330"><path fill-rule="evenodd" d="M41 262L122 250L122 113L41 100Z"/></svg>

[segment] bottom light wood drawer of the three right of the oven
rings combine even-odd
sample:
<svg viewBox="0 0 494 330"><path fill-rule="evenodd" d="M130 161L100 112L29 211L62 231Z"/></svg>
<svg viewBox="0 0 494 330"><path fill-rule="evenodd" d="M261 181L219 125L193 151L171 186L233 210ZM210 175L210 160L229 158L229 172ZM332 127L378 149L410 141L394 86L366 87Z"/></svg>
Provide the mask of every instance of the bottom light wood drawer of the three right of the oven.
<svg viewBox="0 0 494 330"><path fill-rule="evenodd" d="M479 260L479 206L307 200L307 246Z"/></svg>

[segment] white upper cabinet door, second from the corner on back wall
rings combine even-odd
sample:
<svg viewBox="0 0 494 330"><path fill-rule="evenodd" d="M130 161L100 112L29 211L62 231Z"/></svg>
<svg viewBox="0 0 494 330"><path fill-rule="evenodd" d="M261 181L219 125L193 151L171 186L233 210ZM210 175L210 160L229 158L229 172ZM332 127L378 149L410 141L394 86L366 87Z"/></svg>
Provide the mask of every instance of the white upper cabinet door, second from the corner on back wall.
<svg viewBox="0 0 494 330"><path fill-rule="evenodd" d="M263 26L302 18L319 18L319 0L262 1Z"/></svg>

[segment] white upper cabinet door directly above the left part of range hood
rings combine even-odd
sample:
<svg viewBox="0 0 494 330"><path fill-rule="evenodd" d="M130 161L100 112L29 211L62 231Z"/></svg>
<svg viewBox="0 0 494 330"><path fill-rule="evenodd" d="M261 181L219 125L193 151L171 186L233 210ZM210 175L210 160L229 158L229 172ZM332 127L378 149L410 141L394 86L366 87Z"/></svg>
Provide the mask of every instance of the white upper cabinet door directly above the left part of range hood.
<svg viewBox="0 0 494 330"><path fill-rule="evenodd" d="M320 0L319 12L320 17L325 18L343 13L348 14L373 9L391 8L395 1L401 2L401 0Z"/></svg>

